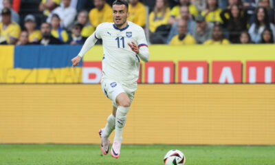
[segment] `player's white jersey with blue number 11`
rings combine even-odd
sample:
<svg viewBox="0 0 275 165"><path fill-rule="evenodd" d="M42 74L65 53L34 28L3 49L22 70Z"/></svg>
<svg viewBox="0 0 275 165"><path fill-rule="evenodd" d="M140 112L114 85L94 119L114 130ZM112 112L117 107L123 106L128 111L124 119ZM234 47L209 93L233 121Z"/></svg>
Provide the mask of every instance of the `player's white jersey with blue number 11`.
<svg viewBox="0 0 275 165"><path fill-rule="evenodd" d="M123 29L116 28L114 23L101 23L96 28L95 36L103 42L102 78L117 80L122 85L136 89L140 57L128 43L147 47L144 30L130 21Z"/></svg>

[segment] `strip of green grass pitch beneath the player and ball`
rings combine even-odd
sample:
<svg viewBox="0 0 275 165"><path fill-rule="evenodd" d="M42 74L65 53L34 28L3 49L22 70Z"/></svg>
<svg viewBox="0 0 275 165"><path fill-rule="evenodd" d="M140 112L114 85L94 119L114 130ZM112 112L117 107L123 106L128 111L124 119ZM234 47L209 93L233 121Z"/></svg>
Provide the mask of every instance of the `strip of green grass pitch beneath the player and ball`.
<svg viewBox="0 0 275 165"><path fill-rule="evenodd" d="M186 165L274 165L275 146L122 145L120 157L102 155L100 145L0 144L0 165L157 165L170 149Z"/></svg>

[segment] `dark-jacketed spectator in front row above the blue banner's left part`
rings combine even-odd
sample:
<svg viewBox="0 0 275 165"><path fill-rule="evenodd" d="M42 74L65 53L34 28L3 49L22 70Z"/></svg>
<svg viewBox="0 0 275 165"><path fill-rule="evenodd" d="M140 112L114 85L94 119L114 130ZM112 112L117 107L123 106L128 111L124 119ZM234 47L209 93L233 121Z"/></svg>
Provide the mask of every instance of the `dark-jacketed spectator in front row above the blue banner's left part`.
<svg viewBox="0 0 275 165"><path fill-rule="evenodd" d="M50 23L46 23L46 22L42 23L41 32L42 32L42 39L38 41L36 44L41 44L41 45L62 44L60 40L52 36Z"/></svg>

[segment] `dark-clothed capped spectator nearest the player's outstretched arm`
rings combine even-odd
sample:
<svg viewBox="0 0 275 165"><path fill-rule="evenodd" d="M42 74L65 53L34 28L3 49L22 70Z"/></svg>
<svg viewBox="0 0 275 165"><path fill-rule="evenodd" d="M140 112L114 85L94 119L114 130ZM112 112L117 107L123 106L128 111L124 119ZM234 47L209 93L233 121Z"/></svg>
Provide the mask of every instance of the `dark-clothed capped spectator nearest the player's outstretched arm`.
<svg viewBox="0 0 275 165"><path fill-rule="evenodd" d="M70 39L70 45L83 45L87 37L81 36L81 30L83 25L80 23L75 23L72 28L72 39Z"/></svg>

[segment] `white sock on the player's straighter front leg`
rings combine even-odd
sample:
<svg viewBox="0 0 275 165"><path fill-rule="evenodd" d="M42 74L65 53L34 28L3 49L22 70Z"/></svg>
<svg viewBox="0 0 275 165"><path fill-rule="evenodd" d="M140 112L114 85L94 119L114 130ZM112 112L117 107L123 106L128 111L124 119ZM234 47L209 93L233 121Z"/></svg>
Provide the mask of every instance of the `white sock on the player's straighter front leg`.
<svg viewBox="0 0 275 165"><path fill-rule="evenodd" d="M130 107L118 106L118 110L115 114L115 141L118 140L122 142L122 131L126 122L126 115Z"/></svg>

